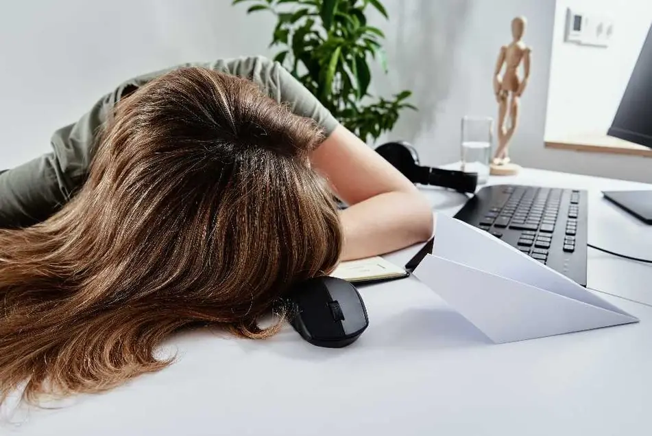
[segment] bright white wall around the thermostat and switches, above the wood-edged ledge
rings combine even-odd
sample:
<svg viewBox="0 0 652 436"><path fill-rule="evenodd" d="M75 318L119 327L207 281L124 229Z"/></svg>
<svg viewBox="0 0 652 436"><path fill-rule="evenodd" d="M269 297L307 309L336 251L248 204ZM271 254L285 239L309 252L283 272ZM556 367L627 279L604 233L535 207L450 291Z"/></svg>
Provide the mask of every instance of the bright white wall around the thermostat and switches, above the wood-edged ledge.
<svg viewBox="0 0 652 436"><path fill-rule="evenodd" d="M564 42L567 8L609 16L609 47ZM607 134L651 22L649 0L557 1L546 139Z"/></svg>

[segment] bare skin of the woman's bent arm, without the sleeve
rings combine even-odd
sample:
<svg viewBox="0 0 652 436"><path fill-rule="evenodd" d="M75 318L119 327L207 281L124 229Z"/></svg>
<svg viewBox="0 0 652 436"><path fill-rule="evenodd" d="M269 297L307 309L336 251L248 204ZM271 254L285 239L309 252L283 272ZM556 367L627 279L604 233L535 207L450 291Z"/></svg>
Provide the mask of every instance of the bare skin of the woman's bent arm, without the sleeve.
<svg viewBox="0 0 652 436"><path fill-rule="evenodd" d="M341 212L342 260L388 253L432 236L433 211L426 198L347 128L337 126L311 162L350 205Z"/></svg>

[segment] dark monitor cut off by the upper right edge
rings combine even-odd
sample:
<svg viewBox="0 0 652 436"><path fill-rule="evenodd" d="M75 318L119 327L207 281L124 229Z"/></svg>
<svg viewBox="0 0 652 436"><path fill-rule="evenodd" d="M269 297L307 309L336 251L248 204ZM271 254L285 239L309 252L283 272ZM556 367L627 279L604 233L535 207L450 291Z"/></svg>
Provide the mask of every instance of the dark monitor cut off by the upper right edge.
<svg viewBox="0 0 652 436"><path fill-rule="evenodd" d="M652 148L652 25L607 135Z"/></svg>

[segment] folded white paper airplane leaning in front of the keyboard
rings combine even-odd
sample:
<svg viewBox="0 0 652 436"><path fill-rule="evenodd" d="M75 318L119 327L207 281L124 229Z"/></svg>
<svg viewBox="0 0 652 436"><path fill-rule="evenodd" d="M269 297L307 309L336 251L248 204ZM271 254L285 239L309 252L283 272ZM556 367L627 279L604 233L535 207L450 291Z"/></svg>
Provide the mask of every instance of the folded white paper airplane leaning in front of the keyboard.
<svg viewBox="0 0 652 436"><path fill-rule="evenodd" d="M437 216L432 255L414 275L494 343L638 322L486 231Z"/></svg>

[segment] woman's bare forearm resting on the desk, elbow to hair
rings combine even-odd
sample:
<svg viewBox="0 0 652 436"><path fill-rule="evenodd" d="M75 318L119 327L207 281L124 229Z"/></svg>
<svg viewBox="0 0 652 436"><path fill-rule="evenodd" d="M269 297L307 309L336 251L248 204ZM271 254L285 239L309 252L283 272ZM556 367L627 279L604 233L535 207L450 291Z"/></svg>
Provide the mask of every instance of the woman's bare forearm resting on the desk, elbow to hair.
<svg viewBox="0 0 652 436"><path fill-rule="evenodd" d="M405 248L433 234L433 211L426 198L387 192L341 211L344 244L341 260Z"/></svg>

